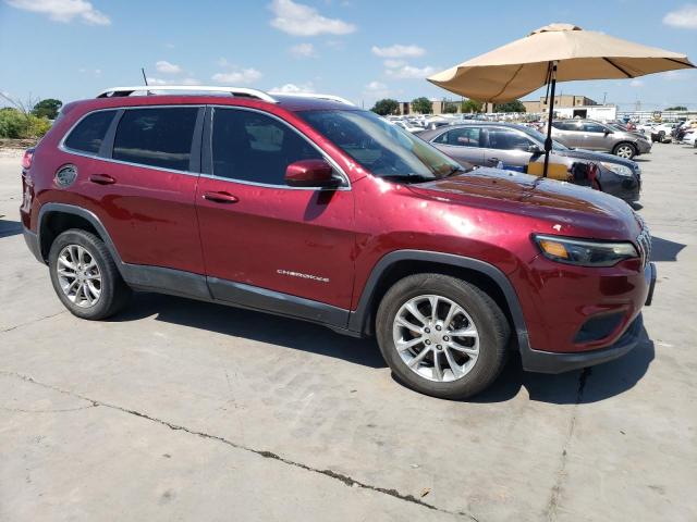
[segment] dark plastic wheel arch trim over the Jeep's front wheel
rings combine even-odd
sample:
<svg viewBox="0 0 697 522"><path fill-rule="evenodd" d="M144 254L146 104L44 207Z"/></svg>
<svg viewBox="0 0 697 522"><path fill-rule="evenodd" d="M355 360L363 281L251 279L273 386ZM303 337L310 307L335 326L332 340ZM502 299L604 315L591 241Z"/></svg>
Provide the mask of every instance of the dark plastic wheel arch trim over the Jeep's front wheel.
<svg viewBox="0 0 697 522"><path fill-rule="evenodd" d="M371 335L378 306L387 290L407 275L425 272L452 275L487 291L514 327L518 347L529 346L517 294L501 270L478 259L424 250L396 250L378 261L366 282L356 310L351 312L348 330Z"/></svg>

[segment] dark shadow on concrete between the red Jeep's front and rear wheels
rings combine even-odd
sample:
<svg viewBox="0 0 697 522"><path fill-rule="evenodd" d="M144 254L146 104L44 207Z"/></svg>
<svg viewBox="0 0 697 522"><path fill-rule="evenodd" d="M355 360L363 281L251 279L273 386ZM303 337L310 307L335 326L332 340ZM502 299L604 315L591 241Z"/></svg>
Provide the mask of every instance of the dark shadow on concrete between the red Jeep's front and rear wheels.
<svg viewBox="0 0 697 522"><path fill-rule="evenodd" d="M161 294L135 293L129 308L108 321L136 321L152 315L157 321L270 343L368 368L387 368L372 339L356 339L305 321Z"/></svg>

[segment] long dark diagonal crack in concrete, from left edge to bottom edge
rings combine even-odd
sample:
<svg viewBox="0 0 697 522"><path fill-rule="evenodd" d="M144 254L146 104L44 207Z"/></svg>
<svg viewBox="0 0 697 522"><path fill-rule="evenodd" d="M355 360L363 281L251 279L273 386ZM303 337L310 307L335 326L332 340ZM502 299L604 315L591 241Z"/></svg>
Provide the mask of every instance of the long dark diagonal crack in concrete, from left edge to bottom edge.
<svg viewBox="0 0 697 522"><path fill-rule="evenodd" d="M199 431L196 431L196 430L191 430L191 428L188 428L186 426L183 426L183 425L180 425L180 424L174 424L172 422L164 421L164 420L158 419L156 417L150 417L147 413L143 413L143 412L137 411L137 410L131 410L129 408L124 408L124 407L121 407L121 406L118 406L118 405L112 405L110 402L105 402L105 401L101 401L101 400L93 399L93 398L86 397L86 396L84 396L82 394L77 394L75 391L70 391L70 390L66 390L66 389L62 389L62 388L59 388L58 386L53 386L51 384L41 383L39 381L34 380L29 375L24 375L22 373L10 372L10 371L5 371L5 370L0 370L0 375L5 375L5 376L10 376L10 377L20 378L20 380L22 380L24 382L27 382L27 383L30 383L30 384L35 384L37 386L41 386L41 387L47 388L47 389L52 389L53 391L58 391L60 394L64 394L64 395L68 395L70 397L73 397L73 398L87 400L87 401L91 402L91 405L93 405L89 408L97 407L97 406L100 406L100 407L103 407L103 408L110 408L112 410L117 410L117 411L120 411L122 413L127 413L127 414L131 414L131 415L138 417L140 419L145 419L145 420L148 420L148 421L151 421L151 422L156 422L156 423L161 424L163 426L167 426L167 427L169 427L170 430L173 430L173 431L182 431L182 432L185 432L185 433L188 433L191 435L195 435L195 436L198 436L198 437L201 437L201 438L206 438L206 439L209 439L209 440L216 440L218 443L222 443L222 444L224 444L227 446L230 446L232 448L255 453L255 455L257 455L259 457L262 457L265 459L276 460L278 462L282 462L284 464L292 465L294 468L298 468L301 470L305 470L305 471L308 471L308 472L311 472L311 473L318 473L320 475L325 475L325 476L328 476L328 477L333 478L335 481L339 481L339 482L343 483L344 485L346 485L348 487L359 487L359 488L363 488L363 489L369 489L369 490L372 490L372 492L376 492L376 493L381 493L383 495L388 495L390 497L396 498L398 500L403 500L405 502L416 504L417 506L430 509L432 511L439 511L441 513L452 514L452 515L457 515L457 517L465 517L470 521L478 522L478 520L473 514L464 512L464 511L451 511L451 510L448 510L448 509L442 509L442 508L439 508L437 506L433 506L432 504L425 502L424 500L420 500L419 498L416 498L413 495L400 493L399 490L393 489L393 488L387 488L387 487L375 486L372 484L367 484L365 482L357 481L357 480L355 480L355 478L353 478L353 477L351 477L351 476L348 476L348 475L346 475L344 473L340 473L340 472L337 472L337 471L333 471L333 470L321 470L321 469L313 468L313 467L304 464L302 462L297 462L297 461L288 459L285 457L282 457L282 456L278 455L278 453L272 452L272 451L255 449L255 448L252 448L252 447L248 447L248 446L243 446L241 444L233 443L232 440L229 440L229 439L227 439L224 437L221 437L219 435L211 435L209 433L199 432Z"/></svg>

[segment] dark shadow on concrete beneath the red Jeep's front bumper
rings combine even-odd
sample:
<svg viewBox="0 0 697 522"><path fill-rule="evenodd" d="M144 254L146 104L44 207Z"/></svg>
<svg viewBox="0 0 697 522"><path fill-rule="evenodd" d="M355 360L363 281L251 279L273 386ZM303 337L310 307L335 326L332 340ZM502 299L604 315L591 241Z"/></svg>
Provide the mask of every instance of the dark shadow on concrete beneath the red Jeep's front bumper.
<svg viewBox="0 0 697 522"><path fill-rule="evenodd" d="M519 357L512 357L496 383L469 402L504 402L522 388L530 400L554 405L590 403L614 397L634 387L653 360L656 349L646 328L639 335L636 348L620 359L558 375L524 372Z"/></svg>

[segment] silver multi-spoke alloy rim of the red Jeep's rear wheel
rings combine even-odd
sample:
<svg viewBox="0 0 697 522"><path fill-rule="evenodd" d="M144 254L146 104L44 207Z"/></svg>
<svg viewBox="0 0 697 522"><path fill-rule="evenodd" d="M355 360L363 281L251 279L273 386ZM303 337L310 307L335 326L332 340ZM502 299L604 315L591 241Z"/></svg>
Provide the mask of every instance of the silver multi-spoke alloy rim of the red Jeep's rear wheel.
<svg viewBox="0 0 697 522"><path fill-rule="evenodd" d="M58 254L58 282L75 306L94 307L101 296L101 272L95 257L80 245L68 245Z"/></svg>

